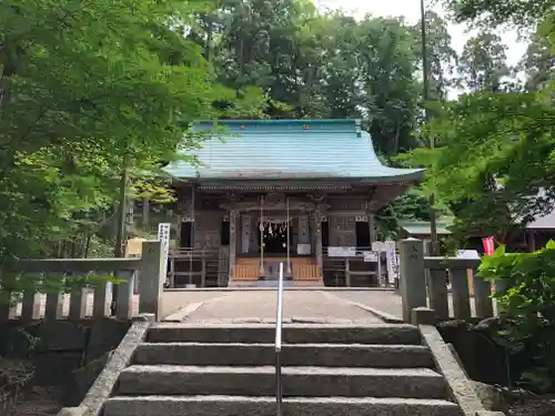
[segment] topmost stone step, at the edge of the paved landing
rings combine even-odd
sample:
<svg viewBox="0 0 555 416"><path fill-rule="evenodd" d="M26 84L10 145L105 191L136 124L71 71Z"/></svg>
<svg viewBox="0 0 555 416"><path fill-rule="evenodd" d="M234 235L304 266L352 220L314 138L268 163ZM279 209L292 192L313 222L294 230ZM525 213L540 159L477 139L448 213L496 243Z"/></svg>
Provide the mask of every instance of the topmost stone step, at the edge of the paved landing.
<svg viewBox="0 0 555 416"><path fill-rule="evenodd" d="M271 344L275 338L275 326L250 325L194 325L157 324L150 328L151 343L245 343ZM286 344L406 344L420 345L418 328L413 325L303 325L287 324L283 327Z"/></svg>

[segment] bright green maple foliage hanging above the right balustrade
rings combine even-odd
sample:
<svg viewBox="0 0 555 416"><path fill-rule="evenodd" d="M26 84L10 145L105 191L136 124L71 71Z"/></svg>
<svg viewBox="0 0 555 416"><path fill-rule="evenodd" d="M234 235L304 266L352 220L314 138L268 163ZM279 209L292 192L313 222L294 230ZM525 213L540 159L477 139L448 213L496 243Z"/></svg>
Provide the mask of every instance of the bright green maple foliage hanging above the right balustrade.
<svg viewBox="0 0 555 416"><path fill-rule="evenodd" d="M413 162L427 163L425 186L450 203L461 229L504 242L515 224L551 210L554 122L542 93L465 94L427 126L438 148L414 151Z"/></svg>

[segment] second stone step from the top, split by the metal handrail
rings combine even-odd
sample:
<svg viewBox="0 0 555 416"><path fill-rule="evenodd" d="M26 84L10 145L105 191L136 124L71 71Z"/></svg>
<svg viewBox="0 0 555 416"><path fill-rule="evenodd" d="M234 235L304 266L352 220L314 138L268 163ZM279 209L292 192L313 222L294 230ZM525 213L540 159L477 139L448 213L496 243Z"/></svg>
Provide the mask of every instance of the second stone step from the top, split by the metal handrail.
<svg viewBox="0 0 555 416"><path fill-rule="evenodd" d="M143 343L134 364L264 366L275 361L273 344ZM422 345L289 344L284 366L411 368L433 367Z"/></svg>

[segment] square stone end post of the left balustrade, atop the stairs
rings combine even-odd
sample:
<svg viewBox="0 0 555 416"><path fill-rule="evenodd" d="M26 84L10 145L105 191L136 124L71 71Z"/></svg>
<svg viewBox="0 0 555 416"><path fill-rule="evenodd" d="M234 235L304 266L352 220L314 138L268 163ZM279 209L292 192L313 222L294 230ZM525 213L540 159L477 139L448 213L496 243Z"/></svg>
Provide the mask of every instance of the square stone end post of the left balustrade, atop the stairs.
<svg viewBox="0 0 555 416"><path fill-rule="evenodd" d="M154 314L161 318L161 301L165 281L165 262L162 242L142 243L141 278L139 280L139 313Z"/></svg>

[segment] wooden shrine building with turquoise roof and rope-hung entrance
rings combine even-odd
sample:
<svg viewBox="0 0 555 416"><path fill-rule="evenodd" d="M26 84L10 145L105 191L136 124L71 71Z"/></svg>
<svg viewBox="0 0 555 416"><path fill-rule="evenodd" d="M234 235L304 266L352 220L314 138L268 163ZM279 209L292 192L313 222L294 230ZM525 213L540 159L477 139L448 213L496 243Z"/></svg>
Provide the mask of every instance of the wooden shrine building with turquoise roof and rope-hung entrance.
<svg viewBox="0 0 555 416"><path fill-rule="evenodd" d="M201 165L165 169L178 195L169 284L274 285L283 262L287 285L376 286L374 213L423 170L384 166L356 120L220 128L191 153Z"/></svg>

